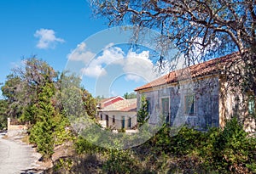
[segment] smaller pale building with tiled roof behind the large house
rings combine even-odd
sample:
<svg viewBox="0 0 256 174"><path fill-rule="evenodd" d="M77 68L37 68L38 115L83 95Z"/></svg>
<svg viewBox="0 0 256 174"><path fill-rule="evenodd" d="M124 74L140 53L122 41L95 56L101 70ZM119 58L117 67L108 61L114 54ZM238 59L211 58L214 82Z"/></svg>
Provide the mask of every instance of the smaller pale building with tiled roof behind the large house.
<svg viewBox="0 0 256 174"><path fill-rule="evenodd" d="M111 104L107 100L107 105L106 101L104 103L104 107L97 110L97 118L103 127L132 129L137 126L137 98L122 99Z"/></svg>

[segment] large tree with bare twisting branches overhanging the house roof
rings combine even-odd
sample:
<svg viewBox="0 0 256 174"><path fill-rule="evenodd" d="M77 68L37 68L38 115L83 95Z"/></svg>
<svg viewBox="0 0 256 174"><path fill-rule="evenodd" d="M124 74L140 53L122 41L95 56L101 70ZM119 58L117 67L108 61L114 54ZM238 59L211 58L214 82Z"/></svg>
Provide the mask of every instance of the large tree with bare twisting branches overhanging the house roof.
<svg viewBox="0 0 256 174"><path fill-rule="evenodd" d="M224 71L236 76L230 83L239 83L242 90L253 91L255 95L254 0L93 0L91 5L94 14L106 17L110 26L136 25L159 31L164 37L162 53L172 43L183 53L188 65L237 52L240 59ZM163 59L160 56L160 63ZM242 65L241 70L231 70L231 66L238 64Z"/></svg>

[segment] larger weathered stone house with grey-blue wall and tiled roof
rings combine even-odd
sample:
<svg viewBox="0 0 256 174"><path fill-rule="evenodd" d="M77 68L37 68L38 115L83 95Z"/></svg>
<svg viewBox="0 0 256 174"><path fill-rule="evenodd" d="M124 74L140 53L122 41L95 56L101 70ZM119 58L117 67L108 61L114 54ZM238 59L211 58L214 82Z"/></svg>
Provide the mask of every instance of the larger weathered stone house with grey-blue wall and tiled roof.
<svg viewBox="0 0 256 174"><path fill-rule="evenodd" d="M231 116L242 118L247 132L255 131L255 96L230 87L224 67L239 59L237 53L211 59L137 87L137 109L142 95L148 100L149 124L165 119L171 126L187 124L199 130L223 127Z"/></svg>

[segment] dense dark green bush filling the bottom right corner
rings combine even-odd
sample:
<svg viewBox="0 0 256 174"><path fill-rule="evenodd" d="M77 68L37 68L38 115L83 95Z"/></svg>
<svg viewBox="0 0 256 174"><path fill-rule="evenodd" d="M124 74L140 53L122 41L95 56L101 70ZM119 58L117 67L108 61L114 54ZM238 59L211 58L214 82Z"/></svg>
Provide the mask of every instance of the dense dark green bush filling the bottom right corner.
<svg viewBox="0 0 256 174"><path fill-rule="evenodd" d="M210 139L211 138L211 139ZM207 165L217 170L236 171L236 166L252 166L256 162L255 138L248 138L247 132L236 118L227 121L222 132L214 133L207 144Z"/></svg>

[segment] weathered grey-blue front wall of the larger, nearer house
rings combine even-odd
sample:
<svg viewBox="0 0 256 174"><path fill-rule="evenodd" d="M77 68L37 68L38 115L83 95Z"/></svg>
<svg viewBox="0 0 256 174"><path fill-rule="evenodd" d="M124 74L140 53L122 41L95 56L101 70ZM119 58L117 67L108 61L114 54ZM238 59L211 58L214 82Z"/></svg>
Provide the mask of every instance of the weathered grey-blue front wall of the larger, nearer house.
<svg viewBox="0 0 256 174"><path fill-rule="evenodd" d="M169 118L165 120L173 126L188 124L196 129L207 130L207 127L219 126L218 118L218 77L211 76L192 82L173 83L166 86L154 87L137 94L137 109L140 107L142 95L149 101L150 124L163 121L162 98L169 99ZM195 96L195 114L184 112L185 96Z"/></svg>

